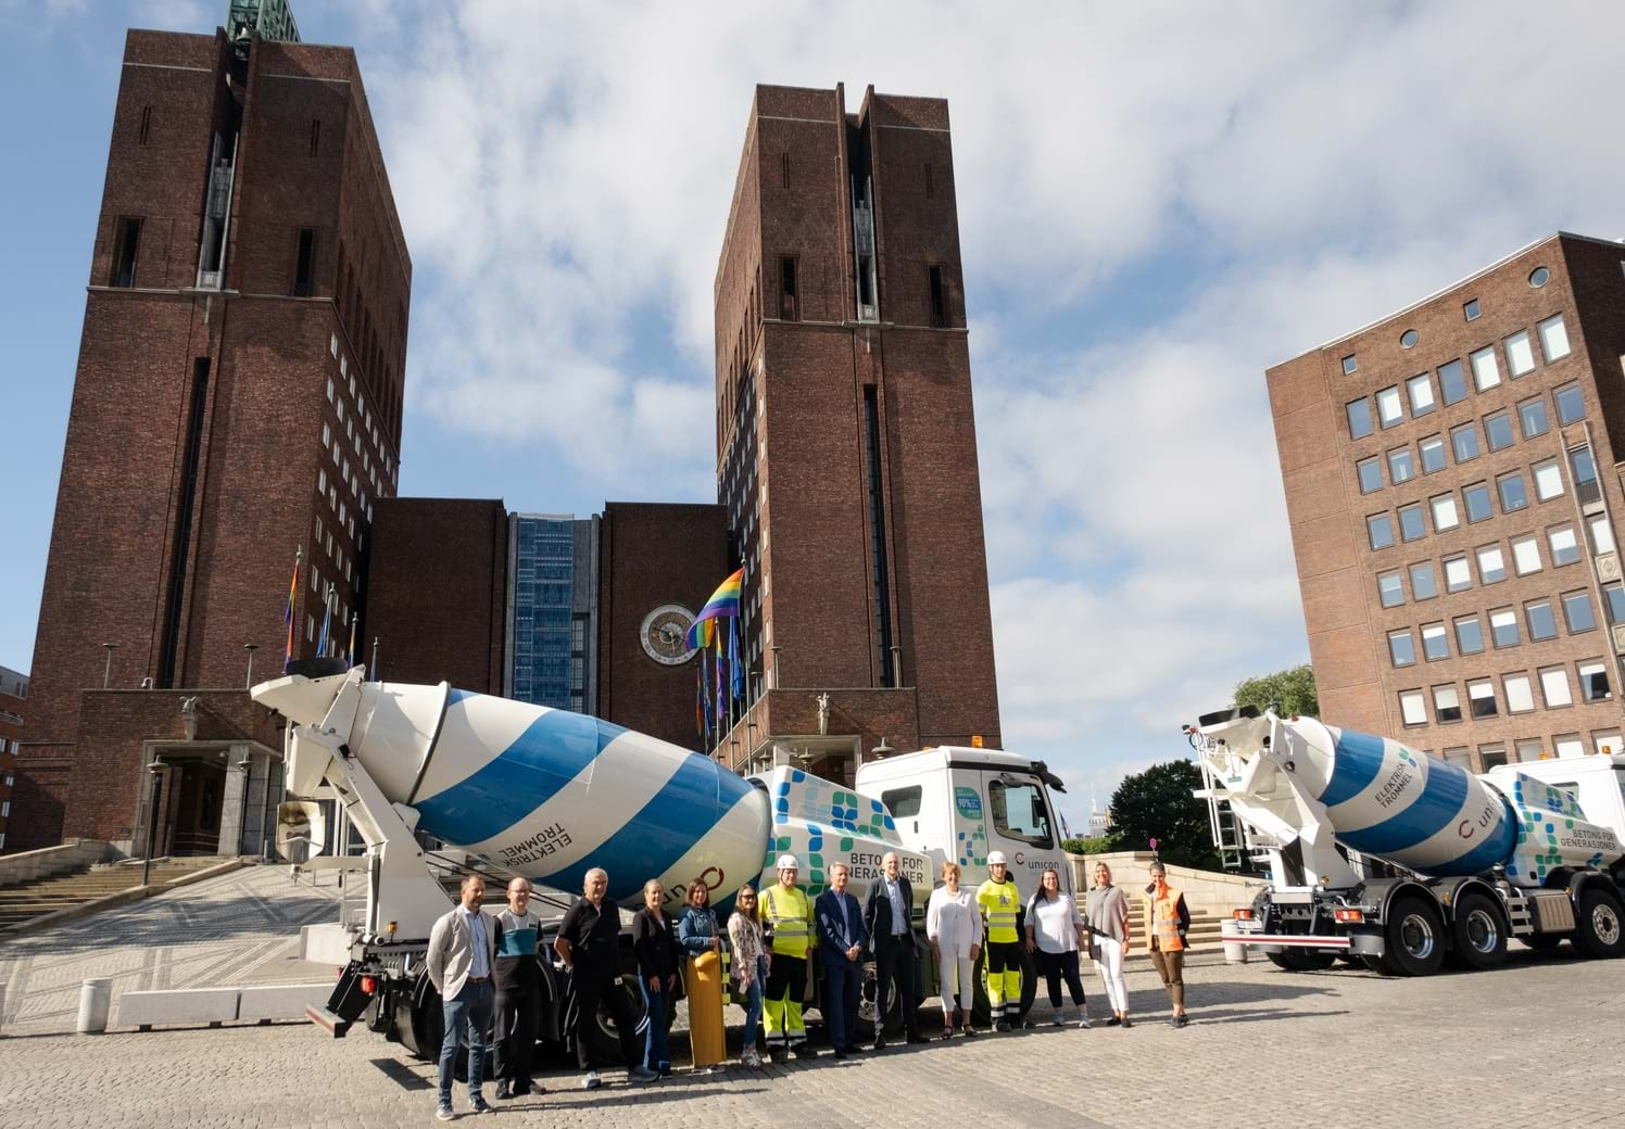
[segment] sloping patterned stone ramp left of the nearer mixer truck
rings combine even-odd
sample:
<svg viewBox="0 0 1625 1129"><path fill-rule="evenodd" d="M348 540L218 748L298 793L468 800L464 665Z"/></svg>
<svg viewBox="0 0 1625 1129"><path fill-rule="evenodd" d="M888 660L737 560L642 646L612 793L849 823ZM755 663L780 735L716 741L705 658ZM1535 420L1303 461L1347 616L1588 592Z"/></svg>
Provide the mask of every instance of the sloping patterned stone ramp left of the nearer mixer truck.
<svg viewBox="0 0 1625 1129"><path fill-rule="evenodd" d="M127 989L332 980L297 958L299 926L338 915L335 876L294 884L286 866L249 866L46 932L0 944L6 1035L72 1032L80 984ZM0 1066L5 1054L0 1053ZM5 1071L0 1071L3 1077Z"/></svg>

